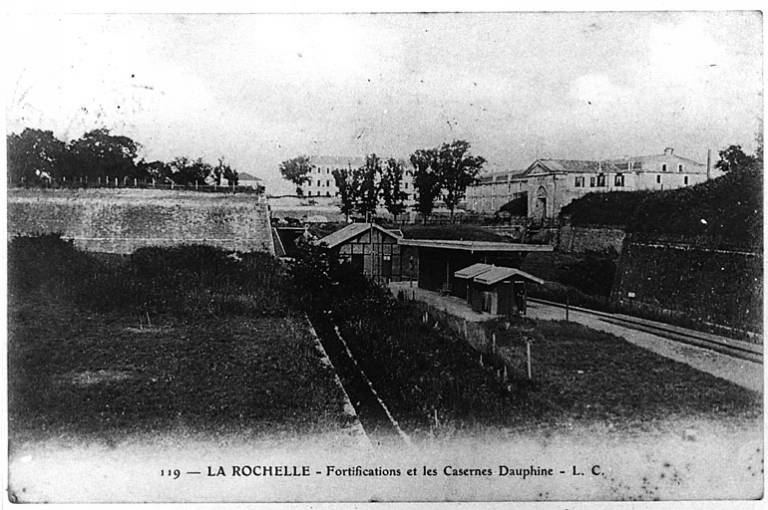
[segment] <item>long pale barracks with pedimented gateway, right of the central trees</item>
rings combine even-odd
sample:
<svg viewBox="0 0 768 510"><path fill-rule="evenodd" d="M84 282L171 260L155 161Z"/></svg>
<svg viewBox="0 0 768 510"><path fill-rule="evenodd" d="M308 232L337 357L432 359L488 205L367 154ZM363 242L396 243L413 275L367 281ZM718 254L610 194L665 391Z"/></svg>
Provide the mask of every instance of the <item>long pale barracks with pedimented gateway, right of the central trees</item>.
<svg viewBox="0 0 768 510"><path fill-rule="evenodd" d="M614 160L537 159L525 170L486 174L467 189L466 206L494 213L524 197L527 216L555 218L576 198L592 192L665 190L693 186L721 175L707 164L662 154Z"/></svg>

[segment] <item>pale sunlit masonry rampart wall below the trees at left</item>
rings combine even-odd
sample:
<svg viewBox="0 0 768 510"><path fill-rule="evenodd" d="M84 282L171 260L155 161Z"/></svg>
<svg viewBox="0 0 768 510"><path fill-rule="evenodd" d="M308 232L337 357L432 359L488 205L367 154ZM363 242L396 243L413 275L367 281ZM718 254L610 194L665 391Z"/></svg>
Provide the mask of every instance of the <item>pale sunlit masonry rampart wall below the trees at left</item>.
<svg viewBox="0 0 768 510"><path fill-rule="evenodd" d="M252 194L11 189L8 233L60 233L105 253L178 244L274 253L266 200Z"/></svg>

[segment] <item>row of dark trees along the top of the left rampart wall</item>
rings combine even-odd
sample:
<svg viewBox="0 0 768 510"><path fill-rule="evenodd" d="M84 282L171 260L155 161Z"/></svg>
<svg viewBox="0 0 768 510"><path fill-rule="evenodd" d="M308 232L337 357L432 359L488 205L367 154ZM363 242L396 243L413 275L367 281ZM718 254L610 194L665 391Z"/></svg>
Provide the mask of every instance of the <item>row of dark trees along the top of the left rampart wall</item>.
<svg viewBox="0 0 768 510"><path fill-rule="evenodd" d="M15 185L57 183L106 183L134 179L176 185L238 184L238 172L224 158L211 165L202 158L177 157L173 161L139 158L140 144L108 129L94 129L65 143L52 131L26 128L11 133L8 142L8 176Z"/></svg>

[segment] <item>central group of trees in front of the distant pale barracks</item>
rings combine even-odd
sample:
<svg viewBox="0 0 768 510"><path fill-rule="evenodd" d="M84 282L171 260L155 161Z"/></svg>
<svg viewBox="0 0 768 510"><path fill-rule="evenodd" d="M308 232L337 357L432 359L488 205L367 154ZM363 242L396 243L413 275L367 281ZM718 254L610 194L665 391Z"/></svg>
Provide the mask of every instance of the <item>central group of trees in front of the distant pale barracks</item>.
<svg viewBox="0 0 768 510"><path fill-rule="evenodd" d="M409 161L416 192L414 209L426 222L435 203L442 200L450 211L451 220L458 204L464 199L467 186L472 184L485 164L481 156L470 154L470 144L464 140L443 143L439 147L418 149ZM349 219L352 214L370 218L380 205L395 217L406 211L408 194L404 191L404 163L395 158L382 160L376 154L365 157L358 168L335 169L333 178L339 190L341 212ZM307 156L297 156L280 164L282 176L296 185L296 193L303 195L302 186L310 182L312 162Z"/></svg>

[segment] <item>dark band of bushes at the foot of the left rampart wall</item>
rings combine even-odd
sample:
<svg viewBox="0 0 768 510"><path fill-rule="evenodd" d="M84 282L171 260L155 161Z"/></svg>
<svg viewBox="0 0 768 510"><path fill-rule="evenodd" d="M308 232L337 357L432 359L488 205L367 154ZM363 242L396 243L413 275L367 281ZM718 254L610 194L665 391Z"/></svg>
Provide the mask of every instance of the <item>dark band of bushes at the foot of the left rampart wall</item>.
<svg viewBox="0 0 768 510"><path fill-rule="evenodd" d="M60 236L19 237L9 246L11 290L44 288L99 312L282 316L287 278L265 253L202 245L142 248L107 264Z"/></svg>

